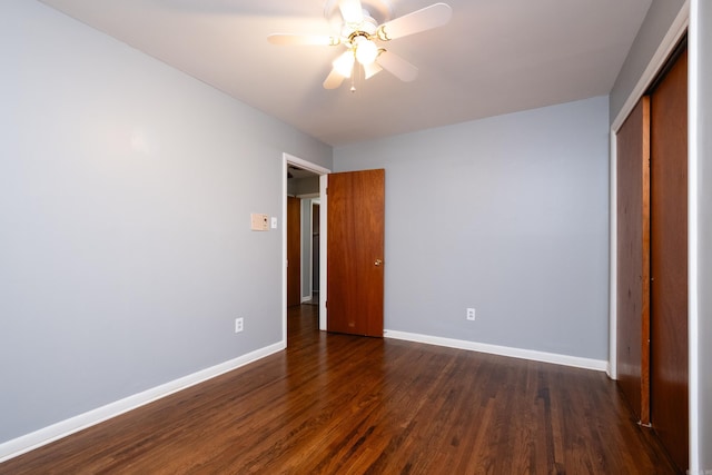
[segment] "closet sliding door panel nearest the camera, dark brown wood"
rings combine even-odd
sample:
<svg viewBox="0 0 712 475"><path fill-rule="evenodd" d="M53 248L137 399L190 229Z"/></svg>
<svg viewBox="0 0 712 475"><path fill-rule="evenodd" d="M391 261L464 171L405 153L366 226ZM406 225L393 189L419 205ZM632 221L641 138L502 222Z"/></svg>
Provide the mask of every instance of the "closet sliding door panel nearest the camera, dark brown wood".
<svg viewBox="0 0 712 475"><path fill-rule="evenodd" d="M651 98L651 420L688 468L688 53Z"/></svg>

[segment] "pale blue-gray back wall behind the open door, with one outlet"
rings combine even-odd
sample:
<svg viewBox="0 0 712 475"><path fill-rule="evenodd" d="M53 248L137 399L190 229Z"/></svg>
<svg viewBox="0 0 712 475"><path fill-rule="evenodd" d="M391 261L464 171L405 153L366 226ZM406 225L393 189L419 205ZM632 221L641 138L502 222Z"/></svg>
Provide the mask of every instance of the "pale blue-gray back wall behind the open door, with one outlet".
<svg viewBox="0 0 712 475"><path fill-rule="evenodd" d="M607 359L607 128L599 97L335 149L386 169L385 327Z"/></svg>

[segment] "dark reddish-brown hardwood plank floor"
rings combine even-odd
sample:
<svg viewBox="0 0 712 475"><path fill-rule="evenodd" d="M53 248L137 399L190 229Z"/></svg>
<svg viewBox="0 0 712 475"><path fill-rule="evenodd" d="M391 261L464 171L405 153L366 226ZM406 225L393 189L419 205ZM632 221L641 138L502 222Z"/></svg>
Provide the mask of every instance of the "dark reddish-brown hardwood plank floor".
<svg viewBox="0 0 712 475"><path fill-rule="evenodd" d="M0 474L666 474L603 373L317 330Z"/></svg>

